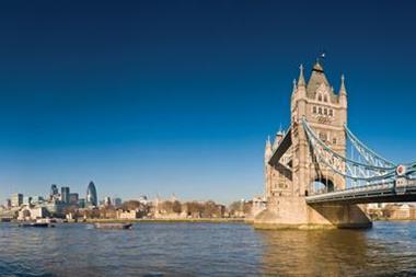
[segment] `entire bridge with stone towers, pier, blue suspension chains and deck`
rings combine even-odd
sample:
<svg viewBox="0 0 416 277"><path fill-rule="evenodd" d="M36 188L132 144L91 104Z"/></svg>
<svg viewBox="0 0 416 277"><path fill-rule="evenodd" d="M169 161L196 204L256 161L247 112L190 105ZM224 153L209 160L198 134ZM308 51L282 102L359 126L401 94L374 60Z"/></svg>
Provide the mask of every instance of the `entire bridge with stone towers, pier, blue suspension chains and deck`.
<svg viewBox="0 0 416 277"><path fill-rule="evenodd" d="M267 209L257 227L366 228L360 204L416 201L416 162L395 164L361 142L347 125L344 76L337 93L316 61L293 81L291 123L266 140Z"/></svg>

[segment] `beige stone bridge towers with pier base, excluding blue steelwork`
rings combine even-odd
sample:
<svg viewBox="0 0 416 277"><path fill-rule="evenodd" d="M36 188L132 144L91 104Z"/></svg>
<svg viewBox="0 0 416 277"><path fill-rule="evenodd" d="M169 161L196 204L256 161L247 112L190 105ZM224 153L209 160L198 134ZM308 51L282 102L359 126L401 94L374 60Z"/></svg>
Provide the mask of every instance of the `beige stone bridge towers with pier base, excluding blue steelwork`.
<svg viewBox="0 0 416 277"><path fill-rule="evenodd" d="M344 188L346 180L313 155L301 124L307 120L320 139L336 153L346 155L347 91L344 76L334 92L317 60L307 82L303 66L291 94L291 123L265 147L265 192L267 209L254 220L265 228L369 227L371 222L357 205L309 206L305 197L314 189ZM319 186L319 184L321 186Z"/></svg>

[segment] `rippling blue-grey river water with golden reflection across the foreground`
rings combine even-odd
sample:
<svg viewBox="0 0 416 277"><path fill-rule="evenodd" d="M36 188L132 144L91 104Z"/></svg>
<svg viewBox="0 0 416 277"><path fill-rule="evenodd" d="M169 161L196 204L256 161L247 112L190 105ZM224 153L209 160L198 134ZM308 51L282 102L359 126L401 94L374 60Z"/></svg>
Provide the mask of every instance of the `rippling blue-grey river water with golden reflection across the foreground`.
<svg viewBox="0 0 416 277"><path fill-rule="evenodd" d="M416 276L416 222L258 231L240 223L0 223L0 276Z"/></svg>

